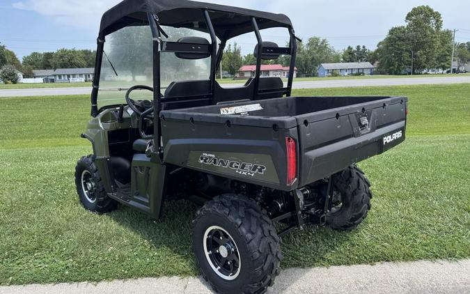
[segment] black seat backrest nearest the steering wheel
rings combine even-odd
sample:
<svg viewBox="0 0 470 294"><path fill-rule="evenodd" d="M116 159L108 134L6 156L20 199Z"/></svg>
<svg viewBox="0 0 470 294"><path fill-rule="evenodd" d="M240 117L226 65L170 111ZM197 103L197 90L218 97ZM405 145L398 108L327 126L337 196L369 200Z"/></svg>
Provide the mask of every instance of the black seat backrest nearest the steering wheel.
<svg viewBox="0 0 470 294"><path fill-rule="evenodd" d="M166 100L166 101L165 101ZM166 88L163 109L181 109L210 105L210 80L172 82Z"/></svg>

